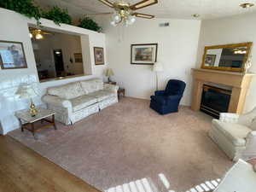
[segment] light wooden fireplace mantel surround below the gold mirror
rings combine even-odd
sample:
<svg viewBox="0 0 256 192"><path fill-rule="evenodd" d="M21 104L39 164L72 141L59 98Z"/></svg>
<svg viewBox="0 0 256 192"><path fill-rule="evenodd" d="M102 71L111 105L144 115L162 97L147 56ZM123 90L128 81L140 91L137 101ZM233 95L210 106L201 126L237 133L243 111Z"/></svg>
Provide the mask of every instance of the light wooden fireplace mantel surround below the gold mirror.
<svg viewBox="0 0 256 192"><path fill-rule="evenodd" d="M191 108L198 111L201 105L203 84L213 83L230 86L232 88L229 113L242 113L247 96L247 90L251 84L253 73L233 73L209 69L193 68L193 100Z"/></svg>

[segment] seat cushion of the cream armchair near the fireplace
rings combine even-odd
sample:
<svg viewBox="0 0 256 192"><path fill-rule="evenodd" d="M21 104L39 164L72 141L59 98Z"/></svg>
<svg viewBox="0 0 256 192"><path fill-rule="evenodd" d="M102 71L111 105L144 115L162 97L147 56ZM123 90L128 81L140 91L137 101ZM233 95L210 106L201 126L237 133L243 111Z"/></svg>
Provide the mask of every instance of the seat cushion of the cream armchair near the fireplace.
<svg viewBox="0 0 256 192"><path fill-rule="evenodd" d="M252 131L247 126L225 123L218 119L213 119L212 125L214 125L218 131L221 131L235 146L245 146L245 138L247 134Z"/></svg>

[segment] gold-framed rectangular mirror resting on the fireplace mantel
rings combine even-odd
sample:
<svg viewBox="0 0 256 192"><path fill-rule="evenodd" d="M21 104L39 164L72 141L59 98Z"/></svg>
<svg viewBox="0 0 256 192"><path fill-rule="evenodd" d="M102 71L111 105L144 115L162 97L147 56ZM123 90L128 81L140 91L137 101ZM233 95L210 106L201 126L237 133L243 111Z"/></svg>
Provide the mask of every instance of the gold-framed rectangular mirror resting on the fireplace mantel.
<svg viewBox="0 0 256 192"><path fill-rule="evenodd" d="M242 73L252 46L252 42L206 46L201 68Z"/></svg>

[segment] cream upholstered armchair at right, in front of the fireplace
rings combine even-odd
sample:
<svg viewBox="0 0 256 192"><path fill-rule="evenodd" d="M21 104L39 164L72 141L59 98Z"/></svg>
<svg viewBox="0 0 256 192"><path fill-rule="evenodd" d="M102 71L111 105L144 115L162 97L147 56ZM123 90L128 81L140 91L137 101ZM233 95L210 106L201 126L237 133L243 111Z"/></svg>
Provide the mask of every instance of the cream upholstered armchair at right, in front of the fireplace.
<svg viewBox="0 0 256 192"><path fill-rule="evenodd" d="M220 113L209 136L231 160L256 157L256 108L250 113Z"/></svg>

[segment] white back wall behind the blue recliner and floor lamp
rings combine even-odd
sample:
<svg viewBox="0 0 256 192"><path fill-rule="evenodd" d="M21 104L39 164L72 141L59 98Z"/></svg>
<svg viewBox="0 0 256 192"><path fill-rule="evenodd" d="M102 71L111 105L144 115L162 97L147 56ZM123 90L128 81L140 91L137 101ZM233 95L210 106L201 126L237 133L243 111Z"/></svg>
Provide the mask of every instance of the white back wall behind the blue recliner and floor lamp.
<svg viewBox="0 0 256 192"><path fill-rule="evenodd" d="M159 27L170 22L169 27ZM152 66L131 65L131 44L158 44L158 61L165 71L160 73L160 89L168 79L181 79L187 83L182 104L190 105L191 74L195 67L201 28L200 20L154 19L137 21L122 30L102 22L107 37L108 62L113 68L113 80L125 87L127 96L149 99L155 90ZM121 39L120 39L121 38Z"/></svg>

